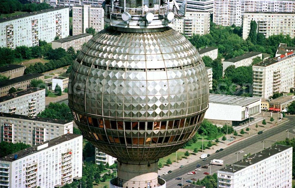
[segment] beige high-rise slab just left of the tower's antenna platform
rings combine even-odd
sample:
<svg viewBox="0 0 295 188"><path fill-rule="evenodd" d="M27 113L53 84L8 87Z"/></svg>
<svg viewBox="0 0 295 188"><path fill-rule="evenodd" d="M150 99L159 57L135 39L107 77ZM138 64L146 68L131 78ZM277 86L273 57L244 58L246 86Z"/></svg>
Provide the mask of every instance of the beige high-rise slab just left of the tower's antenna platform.
<svg viewBox="0 0 295 188"><path fill-rule="evenodd" d="M101 5L84 4L73 7L73 35L86 32L92 27L95 31L104 29L104 9Z"/></svg>

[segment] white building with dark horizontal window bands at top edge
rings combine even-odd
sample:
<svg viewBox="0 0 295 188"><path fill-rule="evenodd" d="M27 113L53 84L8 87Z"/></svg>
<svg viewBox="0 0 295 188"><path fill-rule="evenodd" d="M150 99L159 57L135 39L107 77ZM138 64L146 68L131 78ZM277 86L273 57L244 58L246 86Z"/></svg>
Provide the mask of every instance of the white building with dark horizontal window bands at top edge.
<svg viewBox="0 0 295 188"><path fill-rule="evenodd" d="M176 0L178 4L181 4L184 0ZM188 11L209 11L213 13L213 0L187 0L186 9Z"/></svg>

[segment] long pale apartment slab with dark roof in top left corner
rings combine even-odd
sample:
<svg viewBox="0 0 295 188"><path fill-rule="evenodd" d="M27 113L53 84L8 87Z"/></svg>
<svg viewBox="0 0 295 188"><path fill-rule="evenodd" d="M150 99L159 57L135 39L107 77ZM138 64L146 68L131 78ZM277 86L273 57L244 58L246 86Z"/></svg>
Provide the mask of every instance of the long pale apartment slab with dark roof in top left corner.
<svg viewBox="0 0 295 188"><path fill-rule="evenodd" d="M56 7L0 19L0 47L37 46L69 36L69 9Z"/></svg>

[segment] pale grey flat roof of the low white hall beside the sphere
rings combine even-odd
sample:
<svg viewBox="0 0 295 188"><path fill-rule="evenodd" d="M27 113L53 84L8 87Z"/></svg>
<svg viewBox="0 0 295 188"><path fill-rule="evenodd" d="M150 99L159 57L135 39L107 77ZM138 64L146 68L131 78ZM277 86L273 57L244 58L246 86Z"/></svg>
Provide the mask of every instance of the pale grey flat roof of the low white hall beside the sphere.
<svg viewBox="0 0 295 188"><path fill-rule="evenodd" d="M227 104L233 106L245 106L260 100L255 97L242 97L235 95L209 94L209 103Z"/></svg>

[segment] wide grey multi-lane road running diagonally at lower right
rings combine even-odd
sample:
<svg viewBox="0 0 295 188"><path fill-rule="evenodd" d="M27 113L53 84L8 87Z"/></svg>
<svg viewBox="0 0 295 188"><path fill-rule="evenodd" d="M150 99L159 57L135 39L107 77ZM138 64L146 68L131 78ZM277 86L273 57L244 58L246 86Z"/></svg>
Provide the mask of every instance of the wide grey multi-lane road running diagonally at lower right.
<svg viewBox="0 0 295 188"><path fill-rule="evenodd" d="M212 159L223 159L224 164L231 164L233 162L237 161L237 154L236 152L239 152L241 150L245 151L245 153L255 153L262 149L263 143L261 141L265 141L264 147L269 147L271 144L273 144L276 141L283 140L287 133L286 130L288 129L291 133L295 134L294 127L295 127L295 117L289 116L289 121L285 122L278 127L273 127L272 129L269 129L263 134L255 135L253 137L247 138L241 142L238 142L236 144L233 144L230 147L227 147L224 149L224 151L212 154L210 157L208 157L207 161L198 160L196 163L185 165L183 168L179 168L177 170L174 170L172 173L168 175L161 175L163 179L166 180L168 187L177 187L176 185L178 183L181 183L181 180L175 180L177 177L183 177L183 184L188 179L191 178L202 178L205 175L203 175L204 172L210 172L210 169L202 169L201 172L198 172L196 175L187 175L188 172L194 171L196 169L196 164L200 164L201 166L207 165L210 160ZM292 137L293 135L290 134L289 137ZM261 146L260 146L261 145ZM239 160L242 159L242 154L238 155ZM221 169L222 167L219 166L212 166L211 167L211 173L217 172L217 170Z"/></svg>

